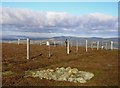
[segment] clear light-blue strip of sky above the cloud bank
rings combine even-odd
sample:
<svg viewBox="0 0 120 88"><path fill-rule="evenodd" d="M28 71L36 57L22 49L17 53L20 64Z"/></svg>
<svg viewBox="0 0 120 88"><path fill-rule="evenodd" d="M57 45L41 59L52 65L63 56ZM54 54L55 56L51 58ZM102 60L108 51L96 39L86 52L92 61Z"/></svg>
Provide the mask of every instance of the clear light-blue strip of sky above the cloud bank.
<svg viewBox="0 0 120 88"><path fill-rule="evenodd" d="M117 2L7 2L2 7L32 9L34 11L67 12L73 15L104 13L117 16Z"/></svg>

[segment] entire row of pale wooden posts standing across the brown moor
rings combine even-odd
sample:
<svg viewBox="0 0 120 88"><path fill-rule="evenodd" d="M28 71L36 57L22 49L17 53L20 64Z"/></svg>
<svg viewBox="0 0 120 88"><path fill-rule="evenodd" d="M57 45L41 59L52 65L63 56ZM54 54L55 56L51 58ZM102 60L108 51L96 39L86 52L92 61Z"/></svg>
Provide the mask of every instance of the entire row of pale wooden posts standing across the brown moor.
<svg viewBox="0 0 120 88"><path fill-rule="evenodd" d="M42 45L42 42L40 41L39 42L40 43L40 45ZM86 44L85 44L85 49L86 49L86 52L88 52L88 40L86 40L86 42L85 42ZM97 45L97 50L99 50L99 48L100 48L100 42L99 41L97 41L97 42L95 42ZM20 44L20 39L18 39L18 45ZM53 42L53 44L54 44L54 47L56 46L56 42L54 41ZM60 42L60 45L62 46L62 44L63 44L63 42L61 41ZM113 50L113 44L114 44L114 42L113 41L110 41L110 49L111 50ZM50 42L49 41L47 41L46 42L46 45L48 46L48 56L50 57L51 56L51 51L50 51L50 49L51 49L51 47L50 47ZM71 45L71 47L72 47L72 41L70 42L69 40L67 40L67 43L66 43L66 52L67 52L67 54L69 54L70 53L70 45ZM91 49L93 50L93 48L94 48L94 42L91 42ZM102 45L101 45L101 49L103 50L104 49L104 47L105 47L105 49L107 50L108 49L108 43L106 42L105 43L105 46L104 46L104 44L102 43ZM78 43L78 40L76 40L76 53L78 52L78 49L79 49L79 43ZM30 39L29 38L27 38L27 59L30 59Z"/></svg>

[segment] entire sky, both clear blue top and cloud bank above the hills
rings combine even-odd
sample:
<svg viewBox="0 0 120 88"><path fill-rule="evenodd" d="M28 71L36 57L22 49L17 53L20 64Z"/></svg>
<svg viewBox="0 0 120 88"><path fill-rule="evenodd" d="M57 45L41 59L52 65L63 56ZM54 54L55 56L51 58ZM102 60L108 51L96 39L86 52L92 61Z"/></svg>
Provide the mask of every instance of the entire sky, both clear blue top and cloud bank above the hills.
<svg viewBox="0 0 120 88"><path fill-rule="evenodd" d="M117 2L4 2L3 37L118 37Z"/></svg>

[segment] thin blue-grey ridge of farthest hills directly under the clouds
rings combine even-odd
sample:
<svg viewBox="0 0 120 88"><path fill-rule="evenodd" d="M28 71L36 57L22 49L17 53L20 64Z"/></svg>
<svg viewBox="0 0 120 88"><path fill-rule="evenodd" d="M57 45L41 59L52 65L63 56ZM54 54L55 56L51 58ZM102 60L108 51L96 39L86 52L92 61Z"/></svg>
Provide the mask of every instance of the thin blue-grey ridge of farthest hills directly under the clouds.
<svg viewBox="0 0 120 88"><path fill-rule="evenodd" d="M55 39L55 40L62 40L64 41L65 39L69 39L71 41L85 41L86 39L88 41L114 41L114 42L118 42L118 38L100 38L100 37L74 37L74 36L55 36L55 37L51 37L51 38L46 38L46 37L29 37L29 36L3 36L2 40L17 40L18 38L20 39L27 39L30 38L31 40L46 40L46 39Z"/></svg>

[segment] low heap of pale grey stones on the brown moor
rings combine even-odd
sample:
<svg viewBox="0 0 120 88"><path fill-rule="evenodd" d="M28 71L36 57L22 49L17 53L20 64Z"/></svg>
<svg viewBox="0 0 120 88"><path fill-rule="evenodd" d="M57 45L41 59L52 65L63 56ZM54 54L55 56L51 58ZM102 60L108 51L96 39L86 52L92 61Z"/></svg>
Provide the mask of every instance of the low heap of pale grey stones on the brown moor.
<svg viewBox="0 0 120 88"><path fill-rule="evenodd" d="M61 67L47 70L40 70L32 72L32 77L39 77L40 79L53 79L56 81L69 81L69 82L79 82L79 83L86 83L87 80L90 80L94 76L93 73L79 71L77 68L71 67Z"/></svg>

